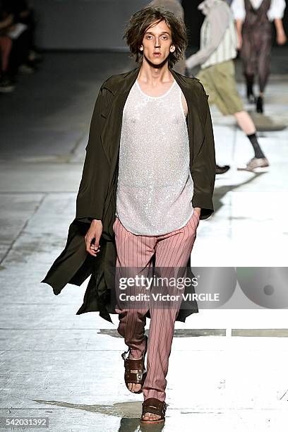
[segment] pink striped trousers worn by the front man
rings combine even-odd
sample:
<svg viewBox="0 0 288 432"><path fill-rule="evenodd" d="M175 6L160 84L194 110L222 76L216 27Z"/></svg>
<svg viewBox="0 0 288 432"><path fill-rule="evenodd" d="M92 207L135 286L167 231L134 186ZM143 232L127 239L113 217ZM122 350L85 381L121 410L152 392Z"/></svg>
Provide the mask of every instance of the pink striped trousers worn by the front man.
<svg viewBox="0 0 288 432"><path fill-rule="evenodd" d="M174 275L174 268L183 270L191 255L198 224L199 217L194 212L186 225L180 229L160 236L139 236L128 232L116 217L113 225L117 251L116 271L117 268L121 268L118 269L120 273L125 268L129 268L130 272L131 268L137 270L140 268L142 275L150 275L154 254L155 268L164 268L165 277L167 277L167 268L171 268L171 275ZM181 277L185 275L186 270ZM137 287L135 294L140 293L141 289L147 294L145 287ZM121 308L116 304L115 311L119 314L118 332L125 338L126 345L136 358L140 358L145 350L145 314L148 309L150 310L147 377L143 385L144 400L149 397L165 400L169 355L180 304L181 301L176 302L173 308L149 308L149 306Z"/></svg>

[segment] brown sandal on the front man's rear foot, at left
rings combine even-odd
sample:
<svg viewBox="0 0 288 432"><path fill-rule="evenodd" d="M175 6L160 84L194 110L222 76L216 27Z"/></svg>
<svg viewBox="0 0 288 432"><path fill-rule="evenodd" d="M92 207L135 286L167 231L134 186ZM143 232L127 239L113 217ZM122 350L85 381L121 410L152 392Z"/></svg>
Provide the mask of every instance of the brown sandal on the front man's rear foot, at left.
<svg viewBox="0 0 288 432"><path fill-rule="evenodd" d="M131 352L130 348L128 348L126 352L123 352L121 354L122 359L124 359L124 367L125 367L124 381L126 384L126 388L128 388L128 383L141 384L143 387L147 375L147 371L145 369L145 364L144 364L145 355L147 352L147 345L148 345L148 337L146 335L145 335L145 339L146 339L146 347L145 347L145 351L143 352L142 359L139 360L128 359L128 355ZM140 388L138 392L132 392L131 390L129 391L131 393L135 393L136 395L143 392L142 388Z"/></svg>

